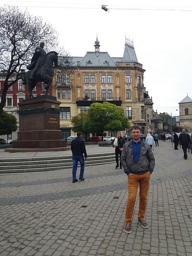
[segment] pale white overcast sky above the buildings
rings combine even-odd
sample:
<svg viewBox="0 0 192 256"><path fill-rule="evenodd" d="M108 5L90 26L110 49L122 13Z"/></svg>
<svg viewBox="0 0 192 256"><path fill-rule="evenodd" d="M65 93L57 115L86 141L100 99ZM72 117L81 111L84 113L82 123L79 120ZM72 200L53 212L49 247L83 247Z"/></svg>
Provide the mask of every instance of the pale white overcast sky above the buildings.
<svg viewBox="0 0 192 256"><path fill-rule="evenodd" d="M179 115L178 103L187 93L192 98L191 0L0 0L3 4L42 16L56 27L71 56L94 51L97 34L100 51L122 57L125 36L130 37L146 70L144 86L158 112ZM102 4L109 12L101 9Z"/></svg>

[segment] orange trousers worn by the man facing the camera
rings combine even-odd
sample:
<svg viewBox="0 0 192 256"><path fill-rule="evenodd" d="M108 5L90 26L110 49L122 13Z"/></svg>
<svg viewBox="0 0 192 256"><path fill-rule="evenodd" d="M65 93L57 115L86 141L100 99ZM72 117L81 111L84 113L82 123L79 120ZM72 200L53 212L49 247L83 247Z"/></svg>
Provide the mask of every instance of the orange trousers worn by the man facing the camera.
<svg viewBox="0 0 192 256"><path fill-rule="evenodd" d="M128 175L128 200L125 213L125 222L132 223L132 215L135 206L135 200L137 196L137 189L139 185L139 212L138 219L143 219L145 210L147 207L147 195L149 190L150 173L145 172L144 174L133 174Z"/></svg>

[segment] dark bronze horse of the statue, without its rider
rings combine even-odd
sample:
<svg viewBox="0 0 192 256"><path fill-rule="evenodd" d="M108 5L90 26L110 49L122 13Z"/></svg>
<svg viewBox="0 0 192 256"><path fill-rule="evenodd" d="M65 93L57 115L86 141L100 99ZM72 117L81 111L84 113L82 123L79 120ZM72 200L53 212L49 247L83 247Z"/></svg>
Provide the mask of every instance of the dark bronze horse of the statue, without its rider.
<svg viewBox="0 0 192 256"><path fill-rule="evenodd" d="M46 95L48 94L48 88L52 83L54 75L53 63L55 67L58 66L58 53L56 51L50 51L48 54L46 54L45 61L40 69L35 73L34 79L29 78L31 75L31 70L24 73L23 84L28 84L30 98L34 98L32 91L35 88L37 82L45 83Z"/></svg>

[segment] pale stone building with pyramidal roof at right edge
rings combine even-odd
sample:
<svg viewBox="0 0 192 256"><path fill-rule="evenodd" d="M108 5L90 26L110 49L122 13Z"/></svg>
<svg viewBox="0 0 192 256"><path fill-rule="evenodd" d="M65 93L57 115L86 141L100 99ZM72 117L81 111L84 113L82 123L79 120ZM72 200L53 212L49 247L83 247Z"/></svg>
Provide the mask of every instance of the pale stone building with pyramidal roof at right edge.
<svg viewBox="0 0 192 256"><path fill-rule="evenodd" d="M179 102L180 106L180 126L192 132L192 99L186 96Z"/></svg>

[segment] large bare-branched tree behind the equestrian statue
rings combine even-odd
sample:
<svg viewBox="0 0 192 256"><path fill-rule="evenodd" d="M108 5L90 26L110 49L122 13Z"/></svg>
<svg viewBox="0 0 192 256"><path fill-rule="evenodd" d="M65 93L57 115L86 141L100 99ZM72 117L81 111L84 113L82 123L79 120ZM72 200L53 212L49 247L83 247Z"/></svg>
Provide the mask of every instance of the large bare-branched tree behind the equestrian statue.
<svg viewBox="0 0 192 256"><path fill-rule="evenodd" d="M59 47L58 33L41 17L22 12L18 7L0 7L0 74L5 77L1 94L0 113L6 102L10 86L23 77L23 69L29 65L31 57L39 46L45 43L45 49L59 51L61 61L66 67L72 59L63 48Z"/></svg>

